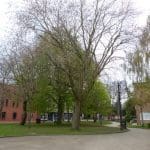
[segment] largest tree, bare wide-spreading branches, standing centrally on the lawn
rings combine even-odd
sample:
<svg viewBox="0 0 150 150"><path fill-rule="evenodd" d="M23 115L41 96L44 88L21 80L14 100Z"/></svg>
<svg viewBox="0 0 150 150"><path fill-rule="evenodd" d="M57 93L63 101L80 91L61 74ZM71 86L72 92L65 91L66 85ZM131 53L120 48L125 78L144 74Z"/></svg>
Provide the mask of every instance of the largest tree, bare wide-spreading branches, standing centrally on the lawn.
<svg viewBox="0 0 150 150"><path fill-rule="evenodd" d="M19 25L58 51L58 55L50 51L48 56L68 76L75 97L72 127L78 129L82 101L95 79L115 59L115 52L123 49L131 38L130 3L122 0L89 3L26 0L25 3L24 10L17 12Z"/></svg>

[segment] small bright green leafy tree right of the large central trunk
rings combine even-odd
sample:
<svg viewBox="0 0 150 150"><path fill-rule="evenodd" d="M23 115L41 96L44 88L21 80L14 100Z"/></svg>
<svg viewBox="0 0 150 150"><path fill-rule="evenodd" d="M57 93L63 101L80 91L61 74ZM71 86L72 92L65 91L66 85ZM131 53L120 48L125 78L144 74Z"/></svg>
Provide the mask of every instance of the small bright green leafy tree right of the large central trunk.
<svg viewBox="0 0 150 150"><path fill-rule="evenodd" d="M104 116L111 113L110 96L102 82L95 82L94 87L90 91L88 99L83 103L82 108L83 113L93 115L94 121L97 120L97 114Z"/></svg>

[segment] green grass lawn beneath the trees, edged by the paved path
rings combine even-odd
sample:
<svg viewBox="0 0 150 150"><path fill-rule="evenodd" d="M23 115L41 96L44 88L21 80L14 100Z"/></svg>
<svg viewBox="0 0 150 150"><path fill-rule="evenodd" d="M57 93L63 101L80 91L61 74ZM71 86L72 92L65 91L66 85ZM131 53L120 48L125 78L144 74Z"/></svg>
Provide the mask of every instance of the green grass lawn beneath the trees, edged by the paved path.
<svg viewBox="0 0 150 150"><path fill-rule="evenodd" d="M110 134L120 132L119 128L98 126L98 123L81 123L80 130L71 129L70 124L56 126L50 123L31 124L21 126L19 124L0 124L0 137L27 136L27 135L92 135Z"/></svg>

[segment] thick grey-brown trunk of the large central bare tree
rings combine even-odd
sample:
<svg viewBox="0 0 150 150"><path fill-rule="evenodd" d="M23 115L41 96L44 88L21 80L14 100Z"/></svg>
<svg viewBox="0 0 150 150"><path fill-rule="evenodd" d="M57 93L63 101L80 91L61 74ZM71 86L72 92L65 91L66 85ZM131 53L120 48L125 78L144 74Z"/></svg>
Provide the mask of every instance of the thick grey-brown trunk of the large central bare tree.
<svg viewBox="0 0 150 150"><path fill-rule="evenodd" d="M75 101L73 118L72 118L72 128L78 130L80 128L80 101Z"/></svg>

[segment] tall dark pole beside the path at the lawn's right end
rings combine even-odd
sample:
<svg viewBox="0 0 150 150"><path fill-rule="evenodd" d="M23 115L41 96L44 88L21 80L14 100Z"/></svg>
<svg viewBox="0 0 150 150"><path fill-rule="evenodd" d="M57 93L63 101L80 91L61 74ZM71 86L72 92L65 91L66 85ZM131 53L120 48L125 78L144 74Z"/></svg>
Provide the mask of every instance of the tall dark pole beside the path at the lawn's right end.
<svg viewBox="0 0 150 150"><path fill-rule="evenodd" d="M123 130L123 122L122 122L122 108L121 108L121 85L118 82L118 109L120 116L120 130Z"/></svg>

